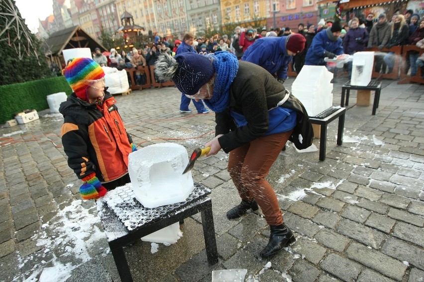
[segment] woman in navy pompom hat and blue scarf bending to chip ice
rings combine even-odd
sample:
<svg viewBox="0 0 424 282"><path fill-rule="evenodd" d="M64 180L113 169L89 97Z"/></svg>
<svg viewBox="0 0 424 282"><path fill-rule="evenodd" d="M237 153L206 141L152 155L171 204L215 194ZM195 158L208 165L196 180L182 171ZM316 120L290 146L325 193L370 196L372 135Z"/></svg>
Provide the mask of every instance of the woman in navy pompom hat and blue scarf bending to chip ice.
<svg viewBox="0 0 424 282"><path fill-rule="evenodd" d="M271 229L268 245L260 252L263 258L293 243L295 236L284 224L265 177L288 140L298 148L312 143L312 126L301 102L267 70L238 61L229 52L164 55L155 66L160 80L171 79L187 97L204 100L215 112L215 138L205 144L211 147L207 155L221 149L229 153L227 169L241 198L227 217L240 217L259 205Z"/></svg>

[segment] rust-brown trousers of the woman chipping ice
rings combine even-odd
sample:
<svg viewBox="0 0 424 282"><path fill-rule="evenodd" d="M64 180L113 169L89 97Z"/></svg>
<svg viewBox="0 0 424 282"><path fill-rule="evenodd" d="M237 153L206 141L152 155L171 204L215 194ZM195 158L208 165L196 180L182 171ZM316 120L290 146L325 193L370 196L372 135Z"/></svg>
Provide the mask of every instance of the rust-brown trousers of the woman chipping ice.
<svg viewBox="0 0 424 282"><path fill-rule="evenodd" d="M274 189L265 180L292 131L257 138L229 153L228 172L240 198L256 200L269 225L284 223Z"/></svg>

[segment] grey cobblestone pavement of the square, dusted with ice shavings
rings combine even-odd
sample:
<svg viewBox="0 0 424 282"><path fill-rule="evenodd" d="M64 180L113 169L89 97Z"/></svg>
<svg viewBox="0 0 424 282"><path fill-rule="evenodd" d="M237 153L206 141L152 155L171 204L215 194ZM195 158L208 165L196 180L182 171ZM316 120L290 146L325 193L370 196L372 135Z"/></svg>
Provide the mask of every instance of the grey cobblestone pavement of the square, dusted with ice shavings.
<svg viewBox="0 0 424 282"><path fill-rule="evenodd" d="M255 258L269 235L261 211L225 217L239 198L220 152L193 170L212 189L218 264L207 264L197 214L181 225L176 244L159 244L154 254L148 242L125 248L134 281L210 282L212 270L222 269L247 269L246 281L423 281L424 87L396 82L383 81L375 116L372 106L355 105L353 91L344 142L336 145L337 125L329 124L325 161L291 144L281 152L268 180L297 241L271 268ZM341 85L334 85L334 105ZM138 147L177 138L168 141L190 152L213 137L213 114L180 114L174 87L116 100ZM39 114L0 129L0 281L120 281L95 203L81 201L81 181L67 165L63 119Z"/></svg>

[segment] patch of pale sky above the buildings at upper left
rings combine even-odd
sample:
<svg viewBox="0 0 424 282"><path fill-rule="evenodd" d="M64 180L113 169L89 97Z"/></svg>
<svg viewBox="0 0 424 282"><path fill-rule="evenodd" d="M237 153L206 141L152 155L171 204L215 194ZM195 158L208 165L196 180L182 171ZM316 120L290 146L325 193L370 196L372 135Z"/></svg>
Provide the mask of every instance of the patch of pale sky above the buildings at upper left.
<svg viewBox="0 0 424 282"><path fill-rule="evenodd" d="M36 33L38 30L38 18L45 20L53 14L52 0L15 0L16 6L29 30Z"/></svg>

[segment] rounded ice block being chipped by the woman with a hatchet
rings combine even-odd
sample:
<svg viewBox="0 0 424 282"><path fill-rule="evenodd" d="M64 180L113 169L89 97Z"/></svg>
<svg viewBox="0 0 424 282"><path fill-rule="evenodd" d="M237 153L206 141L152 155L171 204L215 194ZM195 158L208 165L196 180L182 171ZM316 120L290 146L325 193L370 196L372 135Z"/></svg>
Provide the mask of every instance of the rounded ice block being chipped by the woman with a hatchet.
<svg viewBox="0 0 424 282"><path fill-rule="evenodd" d="M159 143L128 155L128 173L135 198L146 208L184 202L194 190L184 146Z"/></svg>

